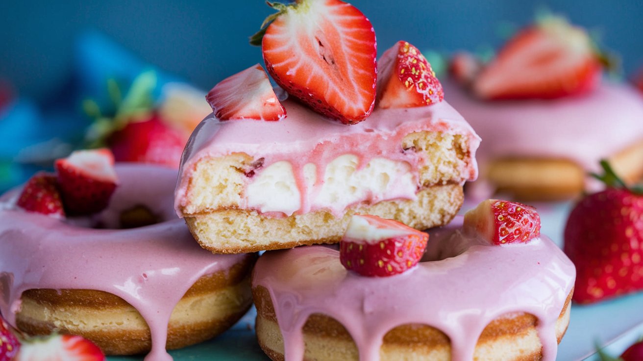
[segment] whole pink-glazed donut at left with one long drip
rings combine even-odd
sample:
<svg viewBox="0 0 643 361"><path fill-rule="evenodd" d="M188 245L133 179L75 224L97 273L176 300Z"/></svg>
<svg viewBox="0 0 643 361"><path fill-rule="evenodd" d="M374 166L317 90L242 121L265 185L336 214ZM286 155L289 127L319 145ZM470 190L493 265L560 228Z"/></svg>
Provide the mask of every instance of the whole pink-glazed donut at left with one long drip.
<svg viewBox="0 0 643 361"><path fill-rule="evenodd" d="M246 313L256 255L195 243L172 207L176 170L122 164L116 173L109 206L92 217L26 212L15 190L0 198L0 312L28 335L71 333L107 355L171 360L166 347L212 338Z"/></svg>

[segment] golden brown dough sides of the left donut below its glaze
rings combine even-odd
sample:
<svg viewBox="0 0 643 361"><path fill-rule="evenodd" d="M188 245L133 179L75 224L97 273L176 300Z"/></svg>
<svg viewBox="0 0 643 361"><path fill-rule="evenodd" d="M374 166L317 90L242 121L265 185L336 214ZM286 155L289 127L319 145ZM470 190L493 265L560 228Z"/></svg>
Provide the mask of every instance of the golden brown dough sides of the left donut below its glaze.
<svg viewBox="0 0 643 361"><path fill-rule="evenodd" d="M256 260L256 255L249 255L229 270L221 270L199 278L179 301L175 313L181 307L193 308L190 311L199 316L203 315L203 318L181 320L180 316L172 313L168 324L167 349L178 349L203 342L226 331L237 322L251 305L249 279L250 270ZM206 309L209 304L219 302L220 299L229 303L226 304L225 310L219 310L214 314ZM48 335L53 331L80 334L95 342L106 355L134 355L150 351L150 329L140 313L112 293L97 290L36 289L25 291L21 300L23 308L17 313L16 322L18 328L28 335ZM77 329L73 326L77 320L72 320L71 317L64 320L64 324L68 326L63 327L57 326L57 323L60 325L58 320L42 317L47 313L58 317L65 315L67 310L78 311L69 315L108 319L130 317L138 322L125 325L123 328Z"/></svg>

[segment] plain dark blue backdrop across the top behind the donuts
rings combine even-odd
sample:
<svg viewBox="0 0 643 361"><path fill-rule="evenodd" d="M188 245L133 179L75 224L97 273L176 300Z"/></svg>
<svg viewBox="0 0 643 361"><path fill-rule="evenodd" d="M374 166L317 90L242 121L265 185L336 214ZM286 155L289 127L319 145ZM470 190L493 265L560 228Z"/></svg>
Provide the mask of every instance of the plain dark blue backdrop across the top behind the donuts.
<svg viewBox="0 0 643 361"><path fill-rule="evenodd" d="M601 34L629 75L643 66L643 1L368 1L379 53L404 39L421 50L498 46L499 24L528 23L545 6ZM403 5L400 5L403 4ZM50 100L73 72L74 46L99 30L143 60L203 89L261 61L249 35L271 10L255 1L1 1L0 79L23 96Z"/></svg>

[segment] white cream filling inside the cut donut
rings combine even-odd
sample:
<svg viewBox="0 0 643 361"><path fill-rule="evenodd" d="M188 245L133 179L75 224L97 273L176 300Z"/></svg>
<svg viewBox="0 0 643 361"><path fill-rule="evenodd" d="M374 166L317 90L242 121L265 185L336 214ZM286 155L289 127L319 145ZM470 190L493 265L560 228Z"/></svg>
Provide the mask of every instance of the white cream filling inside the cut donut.
<svg viewBox="0 0 643 361"><path fill-rule="evenodd" d="M341 215L354 203L415 199L417 182L408 163L373 158L358 167L359 158L354 154L338 156L321 172L313 163L307 163L302 168L300 185L290 162L273 163L257 172L246 185L246 205L260 212L282 212L287 216L298 210L309 212L319 208ZM307 205L306 209L302 209L302 203Z"/></svg>

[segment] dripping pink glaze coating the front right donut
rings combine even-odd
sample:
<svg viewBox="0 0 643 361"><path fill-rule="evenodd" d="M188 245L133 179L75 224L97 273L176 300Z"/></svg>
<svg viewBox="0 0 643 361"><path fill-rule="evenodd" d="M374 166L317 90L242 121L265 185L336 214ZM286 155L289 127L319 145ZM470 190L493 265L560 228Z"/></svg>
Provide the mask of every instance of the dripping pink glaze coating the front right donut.
<svg viewBox="0 0 643 361"><path fill-rule="evenodd" d="M285 358L302 359L302 327L312 313L341 322L362 361L378 360L386 332L409 323L446 333L458 361L473 359L478 337L491 320L527 312L538 318L544 360L555 360L556 320L574 286L574 264L545 236L528 244L492 246L462 233L461 227L458 216L447 227L431 230L424 261L391 277L347 271L339 252L326 246L266 252L252 283L271 295Z"/></svg>

